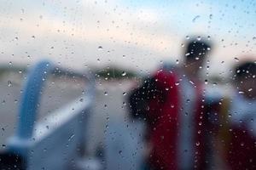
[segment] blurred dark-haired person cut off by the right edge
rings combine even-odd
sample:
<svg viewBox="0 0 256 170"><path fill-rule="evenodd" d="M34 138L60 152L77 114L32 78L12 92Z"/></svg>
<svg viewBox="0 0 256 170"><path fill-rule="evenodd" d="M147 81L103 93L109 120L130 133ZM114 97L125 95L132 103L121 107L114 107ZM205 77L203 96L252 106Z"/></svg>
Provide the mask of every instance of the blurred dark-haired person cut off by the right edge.
<svg viewBox="0 0 256 170"><path fill-rule="evenodd" d="M234 71L234 93L221 101L218 150L230 169L256 169L256 64Z"/></svg>

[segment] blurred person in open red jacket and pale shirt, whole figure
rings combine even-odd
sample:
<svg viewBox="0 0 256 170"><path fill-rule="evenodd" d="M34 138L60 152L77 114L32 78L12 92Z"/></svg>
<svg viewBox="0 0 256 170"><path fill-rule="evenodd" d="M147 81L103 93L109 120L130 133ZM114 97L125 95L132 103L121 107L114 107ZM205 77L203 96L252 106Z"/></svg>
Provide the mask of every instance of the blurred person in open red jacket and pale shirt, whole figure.
<svg viewBox="0 0 256 170"><path fill-rule="evenodd" d="M129 98L133 117L148 124L149 169L207 167L207 107L200 71L211 43L201 37L185 44L183 65L167 65Z"/></svg>

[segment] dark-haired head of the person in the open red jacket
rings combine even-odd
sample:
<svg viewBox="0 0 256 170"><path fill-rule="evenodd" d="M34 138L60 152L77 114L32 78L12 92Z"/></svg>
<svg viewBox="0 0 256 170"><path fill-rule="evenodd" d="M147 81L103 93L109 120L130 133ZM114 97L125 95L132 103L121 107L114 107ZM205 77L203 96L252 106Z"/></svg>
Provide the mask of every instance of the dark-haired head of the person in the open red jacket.
<svg viewBox="0 0 256 170"><path fill-rule="evenodd" d="M202 37L189 38L184 51L185 70L189 74L197 76L211 49L212 44L209 40Z"/></svg>

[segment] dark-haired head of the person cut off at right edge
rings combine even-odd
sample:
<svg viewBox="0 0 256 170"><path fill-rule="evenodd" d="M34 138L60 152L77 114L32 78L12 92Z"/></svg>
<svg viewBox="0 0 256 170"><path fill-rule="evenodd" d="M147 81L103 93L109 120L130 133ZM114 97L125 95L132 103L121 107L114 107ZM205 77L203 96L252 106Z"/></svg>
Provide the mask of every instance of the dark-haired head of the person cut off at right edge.
<svg viewBox="0 0 256 170"><path fill-rule="evenodd" d="M235 67L236 88L247 98L256 97L256 63L246 61Z"/></svg>

